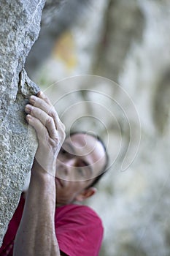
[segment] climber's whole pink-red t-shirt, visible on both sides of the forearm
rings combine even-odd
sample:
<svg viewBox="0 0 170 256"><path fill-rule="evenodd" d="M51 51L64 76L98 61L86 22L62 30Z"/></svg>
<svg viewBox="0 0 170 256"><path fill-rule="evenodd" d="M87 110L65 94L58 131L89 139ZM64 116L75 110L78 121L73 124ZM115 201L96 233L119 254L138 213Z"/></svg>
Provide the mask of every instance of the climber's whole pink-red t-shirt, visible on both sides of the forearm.
<svg viewBox="0 0 170 256"><path fill-rule="evenodd" d="M23 214L25 200L20 203L9 222L0 248L0 256L12 256L15 235ZM55 211L55 233L59 248L69 256L98 256L103 237L101 219L88 206L61 206Z"/></svg>

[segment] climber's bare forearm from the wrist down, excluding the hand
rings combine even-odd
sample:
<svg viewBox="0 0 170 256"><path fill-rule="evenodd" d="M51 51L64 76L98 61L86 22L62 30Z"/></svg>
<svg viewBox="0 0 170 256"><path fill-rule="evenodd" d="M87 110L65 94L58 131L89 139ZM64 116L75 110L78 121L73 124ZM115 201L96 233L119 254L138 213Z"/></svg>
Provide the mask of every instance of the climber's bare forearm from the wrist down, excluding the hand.
<svg viewBox="0 0 170 256"><path fill-rule="evenodd" d="M43 171L39 175L32 174L23 217L15 238L14 256L60 255L54 215L55 178Z"/></svg>

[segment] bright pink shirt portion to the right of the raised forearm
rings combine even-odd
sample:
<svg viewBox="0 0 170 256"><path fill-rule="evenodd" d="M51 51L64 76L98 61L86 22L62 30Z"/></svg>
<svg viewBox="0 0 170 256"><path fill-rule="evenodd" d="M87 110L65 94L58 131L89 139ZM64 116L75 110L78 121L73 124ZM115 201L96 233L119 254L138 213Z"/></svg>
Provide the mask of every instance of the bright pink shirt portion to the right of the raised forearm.
<svg viewBox="0 0 170 256"><path fill-rule="evenodd" d="M103 225L88 206L62 206L55 214L55 233L62 252L69 256L98 256Z"/></svg>

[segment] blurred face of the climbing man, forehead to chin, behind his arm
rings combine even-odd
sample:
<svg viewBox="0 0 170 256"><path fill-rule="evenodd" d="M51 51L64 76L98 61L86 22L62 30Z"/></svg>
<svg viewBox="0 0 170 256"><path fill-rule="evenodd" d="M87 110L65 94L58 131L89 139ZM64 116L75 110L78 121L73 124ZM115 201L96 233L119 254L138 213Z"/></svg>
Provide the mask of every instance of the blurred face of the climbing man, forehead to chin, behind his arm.
<svg viewBox="0 0 170 256"><path fill-rule="evenodd" d="M82 133L66 138L56 162L56 200L58 205L83 200L83 192L101 173L106 162L102 144Z"/></svg>

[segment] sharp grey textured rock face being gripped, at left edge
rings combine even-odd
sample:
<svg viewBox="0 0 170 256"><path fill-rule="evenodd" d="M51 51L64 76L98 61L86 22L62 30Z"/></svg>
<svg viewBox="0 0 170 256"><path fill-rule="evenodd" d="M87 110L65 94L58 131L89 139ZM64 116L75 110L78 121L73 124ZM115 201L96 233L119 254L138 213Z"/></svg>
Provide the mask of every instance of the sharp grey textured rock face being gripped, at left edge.
<svg viewBox="0 0 170 256"><path fill-rule="evenodd" d="M45 1L1 1L0 9L0 244L15 211L36 150L24 106L39 88L23 66L40 29ZM32 135L31 135L32 134ZM29 142L29 138L33 140Z"/></svg>

